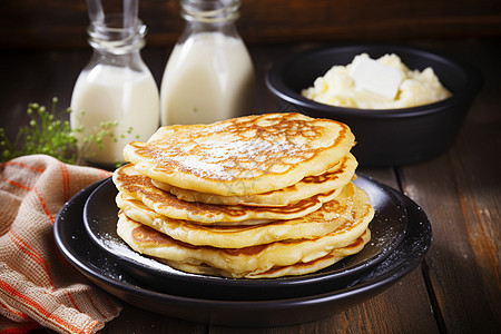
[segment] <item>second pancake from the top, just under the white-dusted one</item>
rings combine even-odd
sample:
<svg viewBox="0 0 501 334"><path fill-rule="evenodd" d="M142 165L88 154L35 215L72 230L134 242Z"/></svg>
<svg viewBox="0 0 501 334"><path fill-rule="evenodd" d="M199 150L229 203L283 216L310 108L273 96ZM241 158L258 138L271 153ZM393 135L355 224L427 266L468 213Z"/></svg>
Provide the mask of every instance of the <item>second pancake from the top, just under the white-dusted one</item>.
<svg viewBox="0 0 501 334"><path fill-rule="evenodd" d="M336 165L323 174L306 176L297 184L283 189L244 196L222 196L198 193L174 187L155 179L153 179L151 183L157 188L176 195L177 198L187 202L216 205L285 206L318 194L343 188L344 185L353 179L356 166L357 161L355 157L352 154L347 154Z"/></svg>

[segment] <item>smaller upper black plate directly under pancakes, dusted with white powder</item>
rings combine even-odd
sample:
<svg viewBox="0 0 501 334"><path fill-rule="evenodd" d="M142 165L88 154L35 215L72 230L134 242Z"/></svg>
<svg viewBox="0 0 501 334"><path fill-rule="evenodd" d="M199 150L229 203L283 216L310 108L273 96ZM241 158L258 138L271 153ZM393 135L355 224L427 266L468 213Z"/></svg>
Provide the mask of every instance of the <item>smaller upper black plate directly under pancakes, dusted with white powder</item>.
<svg viewBox="0 0 501 334"><path fill-rule="evenodd" d="M362 252L316 273L273 279L235 279L188 274L131 250L117 235L117 189L111 179L91 193L84 208L84 225L91 239L115 257L130 275L157 291L212 299L266 299L298 297L344 286L353 276L384 261L402 242L406 212L387 187L358 176L356 184L367 191L375 209L370 224L371 242Z"/></svg>

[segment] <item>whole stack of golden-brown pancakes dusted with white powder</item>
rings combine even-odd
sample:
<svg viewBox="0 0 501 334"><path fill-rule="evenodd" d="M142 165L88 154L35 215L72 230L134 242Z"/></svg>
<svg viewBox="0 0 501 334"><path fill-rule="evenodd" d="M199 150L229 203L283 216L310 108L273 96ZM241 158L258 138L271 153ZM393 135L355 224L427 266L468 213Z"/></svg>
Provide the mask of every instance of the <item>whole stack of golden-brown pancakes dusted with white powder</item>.
<svg viewBox="0 0 501 334"><path fill-rule="evenodd" d="M114 173L118 234L196 274L302 275L360 252L374 216L341 122L266 114L161 127Z"/></svg>

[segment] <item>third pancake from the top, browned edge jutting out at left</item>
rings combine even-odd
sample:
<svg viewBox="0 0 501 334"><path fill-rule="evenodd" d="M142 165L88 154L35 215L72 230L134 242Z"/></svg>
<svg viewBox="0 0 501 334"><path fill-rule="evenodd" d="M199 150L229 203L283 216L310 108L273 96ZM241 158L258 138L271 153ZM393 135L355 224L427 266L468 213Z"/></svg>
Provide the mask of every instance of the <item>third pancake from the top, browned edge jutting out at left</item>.
<svg viewBox="0 0 501 334"><path fill-rule="evenodd" d="M141 200L160 215L205 225L254 225L277 219L294 219L317 210L323 203L334 199L341 191L334 189L282 207L245 207L180 200L173 194L155 187L149 177L137 173L135 166L130 164L115 170L112 180L118 190Z"/></svg>

